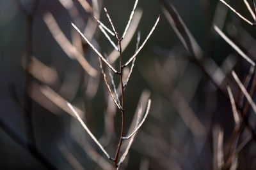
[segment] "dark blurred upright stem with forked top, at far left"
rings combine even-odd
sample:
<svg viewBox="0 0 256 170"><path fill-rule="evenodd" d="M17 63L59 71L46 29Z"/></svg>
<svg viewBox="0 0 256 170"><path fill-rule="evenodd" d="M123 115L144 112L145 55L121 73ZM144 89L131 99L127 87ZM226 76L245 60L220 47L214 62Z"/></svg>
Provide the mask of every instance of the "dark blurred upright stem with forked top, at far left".
<svg viewBox="0 0 256 170"><path fill-rule="evenodd" d="M25 79L25 90L24 90L24 121L26 126L26 135L31 145L35 146L35 136L33 130L33 122L32 122L32 115L31 115L31 108L32 108L32 99L28 96L29 91L33 88L33 76L29 74L31 69L31 56L33 53L33 24L34 24L34 17L36 13L36 9L38 6L39 0L34 0L31 3L31 7L29 11L26 11L25 8L22 6L19 0L16 1L19 10L24 13L26 16L26 51L24 53L23 59L25 60L25 68L26 68L26 79Z"/></svg>

